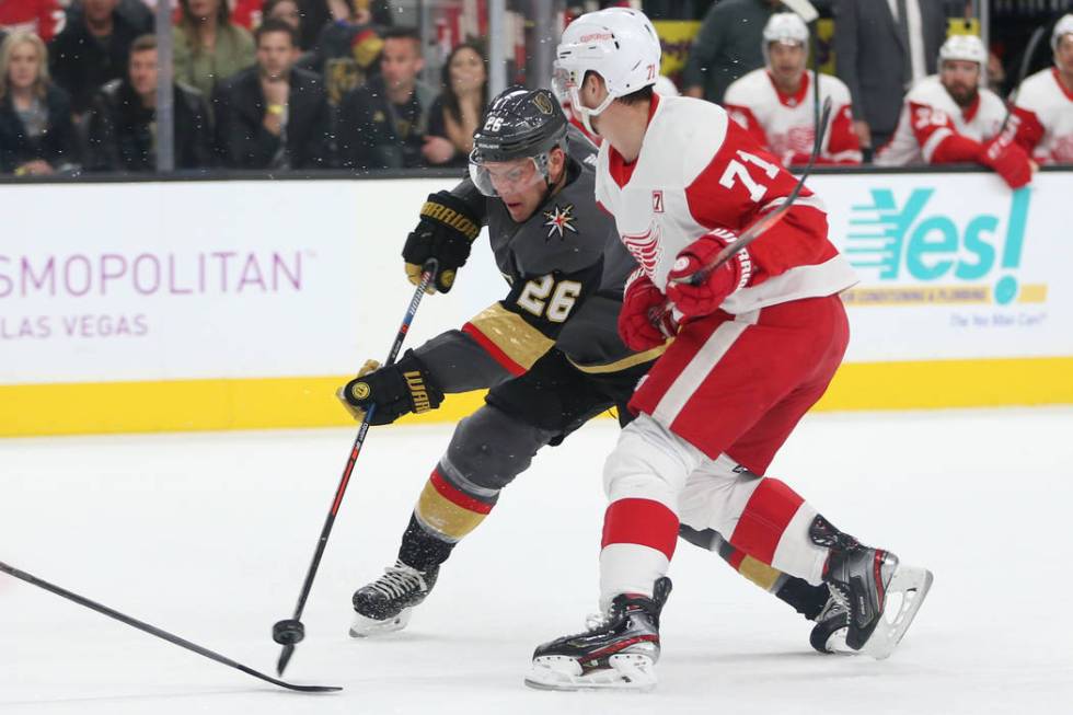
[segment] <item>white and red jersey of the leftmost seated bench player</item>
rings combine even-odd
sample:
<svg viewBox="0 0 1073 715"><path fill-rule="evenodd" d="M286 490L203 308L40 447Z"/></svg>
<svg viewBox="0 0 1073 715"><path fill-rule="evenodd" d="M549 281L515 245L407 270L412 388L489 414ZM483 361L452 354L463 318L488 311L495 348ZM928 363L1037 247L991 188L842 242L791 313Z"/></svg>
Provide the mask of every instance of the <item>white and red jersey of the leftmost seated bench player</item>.
<svg viewBox="0 0 1073 715"><path fill-rule="evenodd" d="M778 157L783 164L806 164L816 137L816 99L812 72L805 72L796 94L783 94L766 69L758 69L735 81L723 99L730 117ZM831 118L818 164L859 164L861 141L853 131L850 89L838 78L820 74L820 103L831 97Z"/></svg>

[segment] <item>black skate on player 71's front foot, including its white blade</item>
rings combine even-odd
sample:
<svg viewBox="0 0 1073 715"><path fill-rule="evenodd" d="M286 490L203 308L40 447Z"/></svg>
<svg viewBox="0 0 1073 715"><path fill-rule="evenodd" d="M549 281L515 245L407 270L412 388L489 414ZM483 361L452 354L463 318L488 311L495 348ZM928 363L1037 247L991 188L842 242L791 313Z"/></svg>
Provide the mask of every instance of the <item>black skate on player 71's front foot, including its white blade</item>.
<svg viewBox="0 0 1073 715"><path fill-rule="evenodd" d="M656 581L653 598L621 593L585 633L539 646L526 684L541 690L650 690L659 659L659 612L670 590L665 576Z"/></svg>

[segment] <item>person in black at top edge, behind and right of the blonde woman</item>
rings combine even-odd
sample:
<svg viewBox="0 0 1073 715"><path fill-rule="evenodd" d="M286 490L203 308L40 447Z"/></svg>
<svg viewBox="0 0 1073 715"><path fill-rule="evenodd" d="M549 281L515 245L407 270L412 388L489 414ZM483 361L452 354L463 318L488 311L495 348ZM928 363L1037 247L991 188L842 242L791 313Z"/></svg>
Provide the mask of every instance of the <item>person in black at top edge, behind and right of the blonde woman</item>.
<svg viewBox="0 0 1073 715"><path fill-rule="evenodd" d="M82 11L48 46L53 80L71 95L76 115L105 83L123 77L130 43L141 34L116 10L118 0L82 0Z"/></svg>

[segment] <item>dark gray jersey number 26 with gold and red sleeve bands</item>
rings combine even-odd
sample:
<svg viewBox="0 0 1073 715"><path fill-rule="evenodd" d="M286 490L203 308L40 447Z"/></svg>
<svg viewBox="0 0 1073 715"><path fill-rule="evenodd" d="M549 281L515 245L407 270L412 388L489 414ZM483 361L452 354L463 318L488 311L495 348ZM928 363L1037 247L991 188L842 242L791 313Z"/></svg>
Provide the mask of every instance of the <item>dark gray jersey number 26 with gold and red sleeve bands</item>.
<svg viewBox="0 0 1073 715"><path fill-rule="evenodd" d="M633 353L619 338L622 290L636 263L613 219L596 204L596 147L573 127L567 141L565 186L523 223L469 180L452 191L487 226L508 292L461 330L415 350L445 392L498 384L522 374L551 349L590 372L612 372L655 357Z"/></svg>

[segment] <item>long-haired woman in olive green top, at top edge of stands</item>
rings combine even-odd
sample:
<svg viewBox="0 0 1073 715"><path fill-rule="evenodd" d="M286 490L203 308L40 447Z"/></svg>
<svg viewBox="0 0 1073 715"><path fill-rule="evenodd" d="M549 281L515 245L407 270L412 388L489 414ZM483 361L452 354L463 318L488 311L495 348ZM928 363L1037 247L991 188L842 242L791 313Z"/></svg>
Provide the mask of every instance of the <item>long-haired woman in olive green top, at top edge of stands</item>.
<svg viewBox="0 0 1073 715"><path fill-rule="evenodd" d="M180 0L180 7L175 79L212 96L219 82L253 65L253 37L231 22L227 0Z"/></svg>

